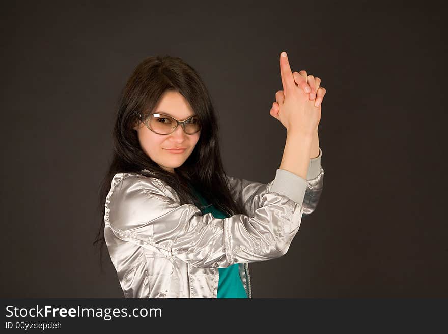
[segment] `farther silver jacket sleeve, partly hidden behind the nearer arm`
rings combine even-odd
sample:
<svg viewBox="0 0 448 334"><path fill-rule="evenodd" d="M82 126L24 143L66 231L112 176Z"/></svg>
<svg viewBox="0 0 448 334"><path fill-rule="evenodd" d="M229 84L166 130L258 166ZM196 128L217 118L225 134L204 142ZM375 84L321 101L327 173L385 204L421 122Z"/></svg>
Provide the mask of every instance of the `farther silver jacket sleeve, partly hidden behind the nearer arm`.
<svg viewBox="0 0 448 334"><path fill-rule="evenodd" d="M303 199L303 215L313 212L319 202L319 198L323 188L324 170L321 166L322 150L319 147L319 155L310 159L308 173L306 175L307 187ZM268 189L268 184L260 182L252 182L242 178L227 176L232 196L239 201L245 208L249 216L261 205L260 200Z"/></svg>

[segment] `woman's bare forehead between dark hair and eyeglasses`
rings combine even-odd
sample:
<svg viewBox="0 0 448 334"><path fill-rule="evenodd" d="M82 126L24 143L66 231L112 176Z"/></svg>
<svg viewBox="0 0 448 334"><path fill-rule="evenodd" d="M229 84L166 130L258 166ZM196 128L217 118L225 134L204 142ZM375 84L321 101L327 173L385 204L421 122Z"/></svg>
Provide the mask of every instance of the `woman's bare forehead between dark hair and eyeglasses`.
<svg viewBox="0 0 448 334"><path fill-rule="evenodd" d="M187 119L195 114L184 96L173 90L168 90L161 95L153 113L165 114L178 120Z"/></svg>

